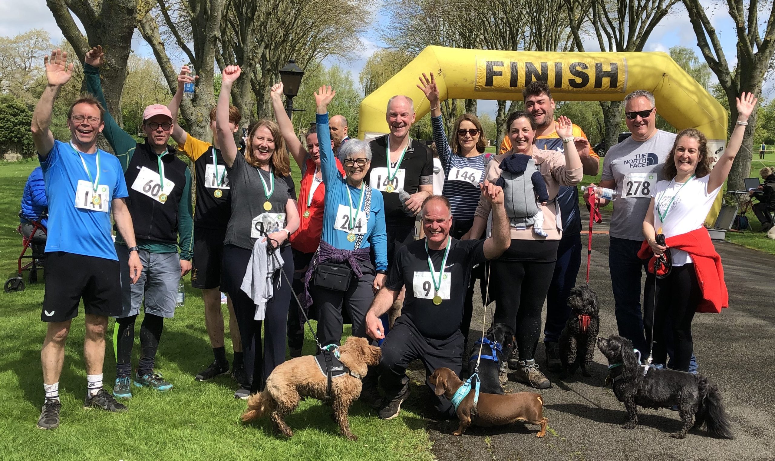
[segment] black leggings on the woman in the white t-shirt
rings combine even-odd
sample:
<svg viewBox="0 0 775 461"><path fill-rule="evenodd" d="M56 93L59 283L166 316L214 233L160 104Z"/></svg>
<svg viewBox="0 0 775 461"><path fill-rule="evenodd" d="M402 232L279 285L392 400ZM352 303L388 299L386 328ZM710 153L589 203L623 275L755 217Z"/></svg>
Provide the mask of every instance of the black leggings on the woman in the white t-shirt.
<svg viewBox="0 0 775 461"><path fill-rule="evenodd" d="M670 275L656 282L656 312L654 311L654 274L646 275L646 296L643 304L643 325L646 344L651 342L653 318L654 363L667 363L667 350L672 346L673 370L689 371L692 349L691 321L702 298L694 264L673 267ZM672 344L668 344L672 338ZM643 359L648 351L642 352Z"/></svg>

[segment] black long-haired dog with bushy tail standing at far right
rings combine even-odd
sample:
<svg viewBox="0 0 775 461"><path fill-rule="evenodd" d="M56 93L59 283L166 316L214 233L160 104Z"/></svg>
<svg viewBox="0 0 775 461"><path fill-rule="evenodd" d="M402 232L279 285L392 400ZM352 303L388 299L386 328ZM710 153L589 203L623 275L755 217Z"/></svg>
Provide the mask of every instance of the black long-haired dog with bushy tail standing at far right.
<svg viewBox="0 0 775 461"><path fill-rule="evenodd" d="M627 409L628 421L623 428L634 429L638 425L636 405L655 409L676 405L684 425L671 437L683 439L692 427L692 417L696 418L695 428L704 426L712 436L718 438L734 437L722 403L722 394L708 378L656 368L648 368L644 375L643 367L633 352L632 342L619 335L611 335L608 339L599 338L598 348L609 363L606 383L612 384L616 398Z"/></svg>

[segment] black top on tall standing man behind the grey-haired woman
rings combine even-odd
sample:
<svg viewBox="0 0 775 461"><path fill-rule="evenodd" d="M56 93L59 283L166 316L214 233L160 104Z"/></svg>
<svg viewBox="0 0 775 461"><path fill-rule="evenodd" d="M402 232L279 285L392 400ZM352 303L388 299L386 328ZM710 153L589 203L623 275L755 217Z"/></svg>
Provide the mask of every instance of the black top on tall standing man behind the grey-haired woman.
<svg viewBox="0 0 775 461"><path fill-rule="evenodd" d="M366 182L371 186L382 191L382 198L385 204L385 224L386 225L415 225L415 217L407 215L404 211L401 199L398 198L396 189L403 187L408 194L415 194L420 185L432 184L433 177L433 155L427 147L419 141L412 139L406 149L404 160L401 165L396 165L398 170L403 171L403 182L401 182L401 171L398 171L392 181L387 180L387 136L380 136L371 141L371 166L366 174ZM391 172L393 166L391 166ZM394 191L385 191L385 186L391 184Z"/></svg>

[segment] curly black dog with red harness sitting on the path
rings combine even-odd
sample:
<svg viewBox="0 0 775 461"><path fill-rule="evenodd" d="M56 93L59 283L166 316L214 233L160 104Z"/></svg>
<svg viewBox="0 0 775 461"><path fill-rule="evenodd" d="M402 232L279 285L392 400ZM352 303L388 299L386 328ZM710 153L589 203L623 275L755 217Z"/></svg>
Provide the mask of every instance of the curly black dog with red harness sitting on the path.
<svg viewBox="0 0 775 461"><path fill-rule="evenodd" d="M592 375L587 367L592 363L594 342L600 330L598 295L590 287L574 287L568 297L570 316L560 334L560 362L565 379L581 367L585 377Z"/></svg>

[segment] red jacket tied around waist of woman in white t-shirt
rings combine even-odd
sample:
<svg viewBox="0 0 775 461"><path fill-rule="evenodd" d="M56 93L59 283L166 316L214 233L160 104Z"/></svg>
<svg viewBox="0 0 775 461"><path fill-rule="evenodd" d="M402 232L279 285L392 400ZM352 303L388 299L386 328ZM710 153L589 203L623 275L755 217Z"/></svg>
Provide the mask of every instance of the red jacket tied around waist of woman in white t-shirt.
<svg viewBox="0 0 775 461"><path fill-rule="evenodd" d="M697 306L697 311L719 314L722 308L729 308L729 293L724 282L722 257L716 253L708 229L701 227L685 234L667 237L665 244L668 248L684 250L694 261L694 272L697 274L697 281L702 291L702 301ZM656 257L648 242L643 242L638 256L642 260L650 257L647 268L653 273Z"/></svg>

